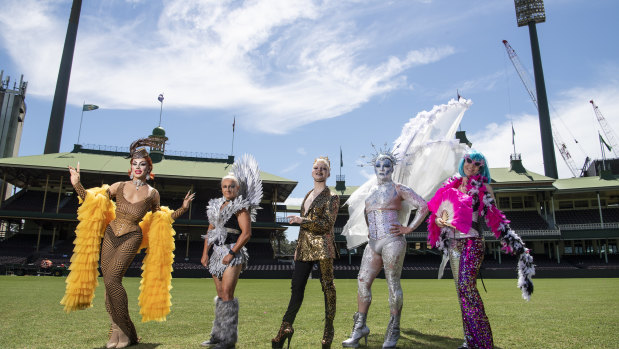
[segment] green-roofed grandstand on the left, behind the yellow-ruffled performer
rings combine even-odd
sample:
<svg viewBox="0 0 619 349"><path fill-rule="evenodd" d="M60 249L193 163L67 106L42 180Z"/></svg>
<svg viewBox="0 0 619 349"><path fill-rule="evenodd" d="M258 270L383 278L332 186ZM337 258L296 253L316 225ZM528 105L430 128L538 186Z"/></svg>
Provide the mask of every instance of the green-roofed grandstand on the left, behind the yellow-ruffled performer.
<svg viewBox="0 0 619 349"><path fill-rule="evenodd" d="M165 138L157 127L151 138ZM0 179L19 188L6 193L0 188L0 265L3 273L42 273L43 260L54 266L67 266L73 250L77 226L78 201L69 182L67 166L81 167L81 180L86 188L112 184L127 178L128 148L75 145L68 153L0 159ZM208 221L209 199L221 195L220 180L234 162L233 156L165 152L164 146L151 149L155 179L151 185L161 196L161 204L172 209L182 205L188 190L198 193L191 208L176 220L176 277L207 277L200 265L203 240ZM264 197L255 223L252 239L247 244L252 267L245 273L251 277L257 265L275 260L272 240L284 236L286 227L275 222L277 202L283 202L297 182L270 173L260 174ZM6 199L5 199L6 198ZM127 275L139 275L144 252L136 256Z"/></svg>

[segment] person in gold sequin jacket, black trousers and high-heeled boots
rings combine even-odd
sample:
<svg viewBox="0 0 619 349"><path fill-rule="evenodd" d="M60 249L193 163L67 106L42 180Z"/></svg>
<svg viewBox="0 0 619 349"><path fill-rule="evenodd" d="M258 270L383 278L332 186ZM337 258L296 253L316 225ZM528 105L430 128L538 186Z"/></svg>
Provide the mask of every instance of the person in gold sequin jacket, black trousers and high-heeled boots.
<svg viewBox="0 0 619 349"><path fill-rule="evenodd" d="M290 223L300 224L294 272L292 273L292 294L288 310L282 320L277 336L271 340L273 348L282 348L288 339L288 346L294 334L292 324L303 303L307 279L314 264L320 266L320 284L325 295L325 329L322 347L330 348L333 342L333 319L335 318L335 285L333 283L333 259L337 249L333 236L333 224L340 207L339 196L332 194L326 185L331 163L327 157L314 161L312 177L314 189L310 190L301 204L301 216L288 217Z"/></svg>

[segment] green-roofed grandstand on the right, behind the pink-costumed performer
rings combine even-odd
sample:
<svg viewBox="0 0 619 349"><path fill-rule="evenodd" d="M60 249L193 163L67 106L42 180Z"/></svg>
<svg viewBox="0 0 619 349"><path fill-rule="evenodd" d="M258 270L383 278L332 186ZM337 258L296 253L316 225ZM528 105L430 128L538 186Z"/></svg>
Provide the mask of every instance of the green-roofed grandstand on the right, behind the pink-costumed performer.
<svg viewBox="0 0 619 349"><path fill-rule="evenodd" d="M600 164L592 162L592 166ZM619 171L614 168L588 171L599 175L557 180L528 171L520 154L512 154L510 167L490 169L497 205L532 250L538 277L619 276ZM344 203L357 188L347 187L345 178L338 176L331 190L339 193ZM346 249L341 232L347 220L343 207L334 228L341 255L336 277L349 271L356 275L363 254L363 247ZM499 253L499 241L485 224L482 227L486 244L483 276L512 277L515 259ZM403 277L437 276L441 257L436 249L428 248L426 238L426 223L407 236ZM446 275L451 273L448 269Z"/></svg>

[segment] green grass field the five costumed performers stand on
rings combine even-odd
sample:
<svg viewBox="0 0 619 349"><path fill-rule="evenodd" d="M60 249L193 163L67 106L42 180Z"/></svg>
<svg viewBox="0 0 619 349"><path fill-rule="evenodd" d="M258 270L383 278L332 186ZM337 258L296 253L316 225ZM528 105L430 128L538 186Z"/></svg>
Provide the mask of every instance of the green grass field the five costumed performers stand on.
<svg viewBox="0 0 619 349"><path fill-rule="evenodd" d="M108 315L103 282L94 307L65 314L59 304L64 278L0 276L0 348L102 348ZM167 322L141 323L139 278L125 278L129 309L142 343L134 348L198 348L213 320L215 290L210 279L174 279ZM619 279L537 279L525 302L516 280L485 280L482 297L497 348L618 348ZM462 324L452 280L402 280L404 309L399 348L456 348ZM334 348L341 347L356 310L356 280L336 280ZM380 348L388 321L387 285L377 279L368 316L370 348ZM245 280L240 301L237 348L270 348L290 295L289 280ZM318 280L310 280L294 324L294 348L320 347L324 317Z"/></svg>

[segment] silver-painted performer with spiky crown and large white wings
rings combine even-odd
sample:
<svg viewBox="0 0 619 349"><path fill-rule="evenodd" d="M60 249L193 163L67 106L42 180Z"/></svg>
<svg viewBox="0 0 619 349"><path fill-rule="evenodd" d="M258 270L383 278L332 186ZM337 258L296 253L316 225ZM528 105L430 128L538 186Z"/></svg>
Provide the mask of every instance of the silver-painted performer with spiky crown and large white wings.
<svg viewBox="0 0 619 349"><path fill-rule="evenodd" d="M400 337L402 288L400 275L406 253L405 234L422 223L428 213L424 197L456 170L465 146L454 135L464 111L471 103L465 99L421 112L403 128L393 151L378 150L369 162L376 177L368 180L349 198L350 219L342 235L348 248L369 240L363 253L358 276L357 313L350 338L343 347L356 348L366 339L366 319L372 301L371 286L384 267L389 287L391 318L383 348L395 348ZM410 224L411 211L416 209Z"/></svg>

